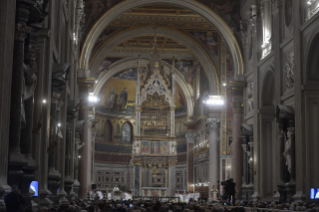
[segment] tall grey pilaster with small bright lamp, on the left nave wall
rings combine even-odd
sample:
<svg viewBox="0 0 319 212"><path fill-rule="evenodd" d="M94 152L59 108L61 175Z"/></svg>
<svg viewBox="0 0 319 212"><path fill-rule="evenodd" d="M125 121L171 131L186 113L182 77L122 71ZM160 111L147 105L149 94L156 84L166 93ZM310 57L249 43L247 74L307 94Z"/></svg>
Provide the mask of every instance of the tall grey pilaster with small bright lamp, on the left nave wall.
<svg viewBox="0 0 319 212"><path fill-rule="evenodd" d="M40 52L46 52L50 48L49 42L49 30L41 30L38 32L39 41L38 47ZM51 118L51 82L52 82L52 65L47 62L49 60L50 54L39 54L37 57L38 64L38 84L37 89L34 92L34 111L41 111L34 113L34 118L36 126L33 134L33 142L36 144L35 160L37 161L38 170L35 172L35 178L39 181L38 190L38 205L39 207L50 207L52 205L51 200L48 196L51 192L48 189L48 148L49 148L49 135L47 129L50 128L50 118ZM46 99L47 104L43 104L43 99ZM45 162L44 162L45 161Z"/></svg>

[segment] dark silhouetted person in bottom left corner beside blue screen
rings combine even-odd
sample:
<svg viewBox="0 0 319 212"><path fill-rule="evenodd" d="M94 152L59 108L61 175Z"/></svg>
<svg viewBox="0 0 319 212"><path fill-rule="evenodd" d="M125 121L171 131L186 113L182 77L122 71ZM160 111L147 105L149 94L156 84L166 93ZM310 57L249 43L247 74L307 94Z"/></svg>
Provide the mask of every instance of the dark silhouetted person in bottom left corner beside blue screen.
<svg viewBox="0 0 319 212"><path fill-rule="evenodd" d="M4 197L4 202L6 204L7 211L10 212L20 212L22 210L22 204L25 204L24 198L20 194L18 186L11 186L11 193Z"/></svg>

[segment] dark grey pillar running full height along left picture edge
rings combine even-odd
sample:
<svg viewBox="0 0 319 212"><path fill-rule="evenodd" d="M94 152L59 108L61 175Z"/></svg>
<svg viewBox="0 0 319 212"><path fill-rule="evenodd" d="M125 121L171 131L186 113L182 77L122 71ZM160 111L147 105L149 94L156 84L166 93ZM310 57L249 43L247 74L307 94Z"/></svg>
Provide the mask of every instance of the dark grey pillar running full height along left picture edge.
<svg viewBox="0 0 319 212"><path fill-rule="evenodd" d="M3 196L10 192L7 174L15 8L16 1L0 1L0 210L5 209Z"/></svg>

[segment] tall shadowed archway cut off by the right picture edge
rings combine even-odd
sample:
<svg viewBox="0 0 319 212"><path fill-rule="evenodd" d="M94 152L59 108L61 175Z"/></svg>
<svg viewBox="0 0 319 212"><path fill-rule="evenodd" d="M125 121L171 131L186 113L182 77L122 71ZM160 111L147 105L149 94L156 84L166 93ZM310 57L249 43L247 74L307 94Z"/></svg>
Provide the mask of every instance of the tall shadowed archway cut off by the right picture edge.
<svg viewBox="0 0 319 212"><path fill-rule="evenodd" d="M296 159L302 160L305 164L303 175L306 180L304 191L310 188L317 188L319 183L319 171L316 161L319 160L318 155L318 139L319 139L319 27L315 28L308 35L308 44L305 49L304 72L303 74L303 90L302 90L302 117L300 126L304 129L304 137L301 141L296 137ZM298 77L298 76L295 76ZM296 127L297 127L296 122ZM303 149L305 154L298 154L298 149ZM298 157L299 156L299 157ZM299 166L299 167L298 167ZM300 170L299 163L296 163L296 170ZM296 173L298 178L298 172ZM309 196L306 199L309 201Z"/></svg>

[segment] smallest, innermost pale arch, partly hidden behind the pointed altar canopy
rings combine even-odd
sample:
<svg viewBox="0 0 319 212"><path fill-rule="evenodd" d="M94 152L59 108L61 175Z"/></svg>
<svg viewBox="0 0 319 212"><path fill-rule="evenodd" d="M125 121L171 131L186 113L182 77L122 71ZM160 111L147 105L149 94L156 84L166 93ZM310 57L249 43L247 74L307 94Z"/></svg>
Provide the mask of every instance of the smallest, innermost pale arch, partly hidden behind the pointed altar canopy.
<svg viewBox="0 0 319 212"><path fill-rule="evenodd" d="M164 69L171 69L171 65L169 65L168 63L163 62L163 64L164 64ZM143 67L146 65L148 65L148 60L140 59L140 66ZM116 73L123 71L125 69L133 68L133 67L137 67L137 58L120 60L114 65L112 65L108 71L106 71L105 73L102 73L99 76L98 83L96 84L94 88L94 94L98 95L103 85ZM190 118L193 116L193 111L194 111L194 106L192 101L192 97L194 95L193 89L190 85L188 85L185 82L184 76L177 69L175 69L175 73L176 73L175 80L179 84L181 89L183 90L186 103L187 103L187 116Z"/></svg>

